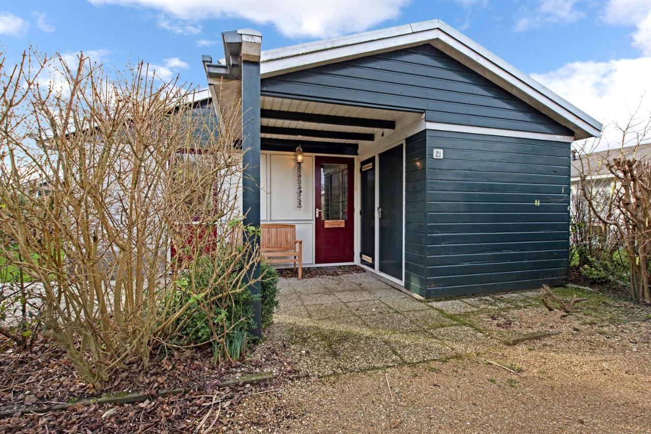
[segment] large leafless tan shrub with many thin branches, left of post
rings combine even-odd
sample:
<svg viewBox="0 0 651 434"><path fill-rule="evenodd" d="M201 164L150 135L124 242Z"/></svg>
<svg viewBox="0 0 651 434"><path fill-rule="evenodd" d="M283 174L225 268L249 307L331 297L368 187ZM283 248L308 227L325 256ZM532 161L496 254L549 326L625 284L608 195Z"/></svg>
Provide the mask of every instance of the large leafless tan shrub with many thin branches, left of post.
<svg viewBox="0 0 651 434"><path fill-rule="evenodd" d="M0 80L0 250L40 283L42 323L89 383L146 367L188 310L247 291L241 110L217 122L145 64L109 74L83 55L3 59Z"/></svg>

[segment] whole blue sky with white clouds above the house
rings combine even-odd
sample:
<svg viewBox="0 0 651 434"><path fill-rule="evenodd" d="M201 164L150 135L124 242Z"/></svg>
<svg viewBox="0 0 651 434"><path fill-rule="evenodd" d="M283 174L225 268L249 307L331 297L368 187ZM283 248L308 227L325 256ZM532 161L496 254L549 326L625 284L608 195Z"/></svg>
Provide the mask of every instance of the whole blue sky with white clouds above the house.
<svg viewBox="0 0 651 434"><path fill-rule="evenodd" d="M257 29L269 49L432 18L604 122L651 88L651 0L4 2L0 45L10 62L29 44L46 53L83 50L117 66L144 59L161 75L204 87L201 55L221 57L222 31Z"/></svg>

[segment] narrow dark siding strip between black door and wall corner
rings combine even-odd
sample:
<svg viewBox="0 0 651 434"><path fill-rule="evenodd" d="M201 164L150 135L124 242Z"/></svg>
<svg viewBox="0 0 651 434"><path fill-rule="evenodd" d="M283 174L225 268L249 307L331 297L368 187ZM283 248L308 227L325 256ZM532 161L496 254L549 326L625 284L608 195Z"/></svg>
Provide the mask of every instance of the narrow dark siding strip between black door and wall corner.
<svg viewBox="0 0 651 434"><path fill-rule="evenodd" d="M425 296L426 269L426 133L405 141L405 281L406 289Z"/></svg>

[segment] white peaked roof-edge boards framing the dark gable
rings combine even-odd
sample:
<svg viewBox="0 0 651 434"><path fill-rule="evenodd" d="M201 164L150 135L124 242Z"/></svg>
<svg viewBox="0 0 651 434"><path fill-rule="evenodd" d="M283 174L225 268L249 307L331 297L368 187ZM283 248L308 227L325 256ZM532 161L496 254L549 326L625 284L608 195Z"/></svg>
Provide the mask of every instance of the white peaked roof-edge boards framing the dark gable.
<svg viewBox="0 0 651 434"><path fill-rule="evenodd" d="M422 44L432 44L559 124L572 129L575 140L600 136L602 124L598 120L441 20L265 50L260 53L260 76L264 79Z"/></svg>

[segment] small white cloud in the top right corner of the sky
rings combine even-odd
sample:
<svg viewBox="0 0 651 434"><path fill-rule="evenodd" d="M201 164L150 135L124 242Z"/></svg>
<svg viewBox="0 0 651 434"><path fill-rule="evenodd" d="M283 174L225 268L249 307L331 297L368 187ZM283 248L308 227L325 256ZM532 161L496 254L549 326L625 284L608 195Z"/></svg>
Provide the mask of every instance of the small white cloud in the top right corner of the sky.
<svg viewBox="0 0 651 434"><path fill-rule="evenodd" d="M611 24L634 25L633 46L651 56L651 0L609 0L603 18Z"/></svg>

